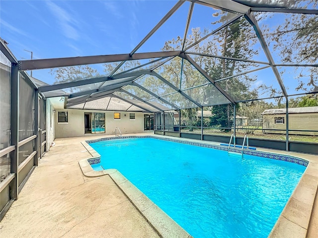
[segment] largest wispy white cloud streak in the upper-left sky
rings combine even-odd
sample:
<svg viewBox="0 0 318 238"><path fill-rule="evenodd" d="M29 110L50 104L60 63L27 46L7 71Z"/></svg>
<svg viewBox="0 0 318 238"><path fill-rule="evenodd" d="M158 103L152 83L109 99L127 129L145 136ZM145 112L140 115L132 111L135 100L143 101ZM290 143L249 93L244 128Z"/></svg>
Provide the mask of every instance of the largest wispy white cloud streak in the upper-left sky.
<svg viewBox="0 0 318 238"><path fill-rule="evenodd" d="M78 21L75 18L73 18L65 9L61 8L52 1L46 1L46 3L49 6L52 13L54 14L54 16L57 18L64 35L67 38L78 40L79 33L77 29L74 27L78 23Z"/></svg>

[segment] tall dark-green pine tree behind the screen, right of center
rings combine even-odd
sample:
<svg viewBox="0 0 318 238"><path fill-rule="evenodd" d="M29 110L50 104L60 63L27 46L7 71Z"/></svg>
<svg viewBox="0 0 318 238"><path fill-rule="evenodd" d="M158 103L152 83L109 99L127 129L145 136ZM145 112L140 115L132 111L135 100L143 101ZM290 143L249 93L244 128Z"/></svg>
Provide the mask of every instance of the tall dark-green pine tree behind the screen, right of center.
<svg viewBox="0 0 318 238"><path fill-rule="evenodd" d="M223 18L221 17L221 22ZM258 54L257 50L253 49L256 43L253 33L250 31L249 23L244 19L230 24L228 27L216 34L214 42L220 43L220 53L224 57L249 59L253 55ZM246 41L246 39L251 39ZM218 63L207 65L205 70L212 75L214 80L227 78L240 72L246 71L251 63L246 63L237 60L219 60ZM257 98L257 89L250 90L252 83L256 79L244 74L240 77L231 77L220 81L218 84L235 100L245 100ZM221 125L222 127L231 127L233 124L233 106L220 105L212 109L211 124ZM225 129L229 131L229 129Z"/></svg>

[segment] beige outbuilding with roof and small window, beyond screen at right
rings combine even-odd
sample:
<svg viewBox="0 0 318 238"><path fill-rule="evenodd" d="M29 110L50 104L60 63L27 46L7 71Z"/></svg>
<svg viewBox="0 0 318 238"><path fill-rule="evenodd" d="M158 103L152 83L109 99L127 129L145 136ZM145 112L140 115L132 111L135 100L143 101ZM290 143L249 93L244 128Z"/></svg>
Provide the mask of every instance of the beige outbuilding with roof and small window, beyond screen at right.
<svg viewBox="0 0 318 238"><path fill-rule="evenodd" d="M268 109L261 115L265 133L285 134L286 108ZM318 135L318 107L289 108L288 116L289 134Z"/></svg>

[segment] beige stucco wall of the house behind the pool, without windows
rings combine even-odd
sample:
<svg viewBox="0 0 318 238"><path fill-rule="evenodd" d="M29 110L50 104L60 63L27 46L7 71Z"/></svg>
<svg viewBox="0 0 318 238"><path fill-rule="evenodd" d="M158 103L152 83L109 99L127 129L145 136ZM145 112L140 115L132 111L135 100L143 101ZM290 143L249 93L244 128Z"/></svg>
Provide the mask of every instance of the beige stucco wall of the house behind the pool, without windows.
<svg viewBox="0 0 318 238"><path fill-rule="evenodd" d="M65 112L65 111L68 112L69 122L58 122L58 112ZM114 112L61 109L61 110L56 110L56 113L54 114L55 137L63 138L63 137L83 136L85 132L84 113L105 113L105 128L106 128L105 134L108 134L108 135L115 133L116 126L120 128L123 134L140 133L144 131L144 114L143 113L135 113L135 119L131 120L129 119L129 112L120 112L120 119L114 119ZM103 134L103 133L100 133L100 134Z"/></svg>

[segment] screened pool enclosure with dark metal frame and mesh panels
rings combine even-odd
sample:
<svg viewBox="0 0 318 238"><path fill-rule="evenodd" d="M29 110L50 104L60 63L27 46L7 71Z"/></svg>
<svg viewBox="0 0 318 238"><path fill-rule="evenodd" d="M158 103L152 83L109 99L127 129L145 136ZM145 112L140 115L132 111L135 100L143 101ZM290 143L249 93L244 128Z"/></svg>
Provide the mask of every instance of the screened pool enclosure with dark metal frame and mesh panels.
<svg viewBox="0 0 318 238"><path fill-rule="evenodd" d="M229 142L233 133L241 144L239 135L278 131L280 139L250 144L318 154L315 141L293 140L318 133L318 109L309 110L308 123L301 123L306 112L295 113L299 126L289 114L318 107L317 8L315 0L179 0L130 53L118 55L17 60L1 39L0 152L15 175L10 197L46 150L51 98L65 109L154 114L162 135ZM54 84L28 74L47 69ZM268 109L283 112L265 121Z"/></svg>

